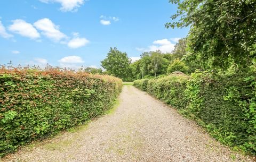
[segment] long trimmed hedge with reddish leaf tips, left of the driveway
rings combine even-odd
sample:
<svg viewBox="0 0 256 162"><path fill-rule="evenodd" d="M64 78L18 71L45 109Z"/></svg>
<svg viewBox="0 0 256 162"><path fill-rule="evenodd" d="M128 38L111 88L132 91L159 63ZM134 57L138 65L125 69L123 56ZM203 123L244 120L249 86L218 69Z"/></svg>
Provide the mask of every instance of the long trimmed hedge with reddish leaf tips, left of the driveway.
<svg viewBox="0 0 256 162"><path fill-rule="evenodd" d="M105 113L121 89L112 76L0 69L0 156Z"/></svg>

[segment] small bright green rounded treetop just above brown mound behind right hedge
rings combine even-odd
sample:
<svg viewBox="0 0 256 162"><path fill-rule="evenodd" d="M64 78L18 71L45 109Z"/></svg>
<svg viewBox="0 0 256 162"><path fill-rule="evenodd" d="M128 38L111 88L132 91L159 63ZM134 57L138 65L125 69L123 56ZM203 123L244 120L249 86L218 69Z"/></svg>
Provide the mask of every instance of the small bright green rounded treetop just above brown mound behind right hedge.
<svg viewBox="0 0 256 162"><path fill-rule="evenodd" d="M174 71L180 71L183 73L187 73L189 70L189 67L186 66L186 64L182 61L180 61L179 59L174 59L174 61L169 64L168 68L167 68L167 73L172 73Z"/></svg>

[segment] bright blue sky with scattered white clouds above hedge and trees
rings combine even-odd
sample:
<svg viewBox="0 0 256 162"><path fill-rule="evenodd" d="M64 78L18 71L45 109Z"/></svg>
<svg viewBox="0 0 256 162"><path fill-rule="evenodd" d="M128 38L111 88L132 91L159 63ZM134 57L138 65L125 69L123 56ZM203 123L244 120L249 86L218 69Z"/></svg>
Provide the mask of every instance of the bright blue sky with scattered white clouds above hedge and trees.
<svg viewBox="0 0 256 162"><path fill-rule="evenodd" d="M136 59L171 52L188 28L165 29L177 6L169 0L0 1L0 64L100 67L110 47Z"/></svg>

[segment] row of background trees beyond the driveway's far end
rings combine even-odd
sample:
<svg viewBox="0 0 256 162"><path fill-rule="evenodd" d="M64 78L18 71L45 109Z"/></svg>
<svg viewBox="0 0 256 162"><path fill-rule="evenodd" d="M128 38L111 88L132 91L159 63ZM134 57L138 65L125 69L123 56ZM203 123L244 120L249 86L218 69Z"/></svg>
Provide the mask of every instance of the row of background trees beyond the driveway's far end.
<svg viewBox="0 0 256 162"><path fill-rule="evenodd" d="M183 56L187 54L186 48L187 40L182 38L171 53L162 53L160 50L144 52L140 55L140 59L133 63L126 53L117 48L110 48L101 66L106 69L104 73L114 75L124 81L156 78L174 71L190 74L200 69L201 66L184 60Z"/></svg>

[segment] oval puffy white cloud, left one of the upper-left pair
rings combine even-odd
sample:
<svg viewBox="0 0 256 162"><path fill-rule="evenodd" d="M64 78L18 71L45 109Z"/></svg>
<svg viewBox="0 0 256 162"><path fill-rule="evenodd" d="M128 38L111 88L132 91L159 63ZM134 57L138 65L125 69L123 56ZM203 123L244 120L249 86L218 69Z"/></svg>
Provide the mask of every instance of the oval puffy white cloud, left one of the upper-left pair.
<svg viewBox="0 0 256 162"><path fill-rule="evenodd" d="M13 24L8 27L8 30L31 39L40 37L40 34L30 23L21 19L13 20L12 22Z"/></svg>

